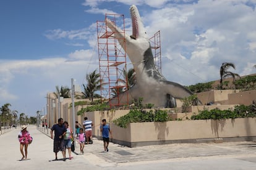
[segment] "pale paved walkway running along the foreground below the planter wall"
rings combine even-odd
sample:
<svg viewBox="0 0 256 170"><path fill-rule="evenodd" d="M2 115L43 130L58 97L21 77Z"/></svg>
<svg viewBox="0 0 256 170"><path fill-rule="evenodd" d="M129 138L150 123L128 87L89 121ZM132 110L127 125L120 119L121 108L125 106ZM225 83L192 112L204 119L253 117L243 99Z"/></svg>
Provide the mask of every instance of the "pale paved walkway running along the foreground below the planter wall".
<svg viewBox="0 0 256 170"><path fill-rule="evenodd" d="M103 142L94 139L85 145L85 154L72 153L73 160L53 161L53 140L35 126L28 126L33 143L28 147L28 160L19 161L17 134L13 129L0 136L0 169L256 169L255 142L222 144L169 144L128 148L109 144L103 153ZM46 132L46 131L45 131ZM76 145L75 152L79 152ZM68 154L67 154L68 156ZM62 158L61 152L58 158Z"/></svg>

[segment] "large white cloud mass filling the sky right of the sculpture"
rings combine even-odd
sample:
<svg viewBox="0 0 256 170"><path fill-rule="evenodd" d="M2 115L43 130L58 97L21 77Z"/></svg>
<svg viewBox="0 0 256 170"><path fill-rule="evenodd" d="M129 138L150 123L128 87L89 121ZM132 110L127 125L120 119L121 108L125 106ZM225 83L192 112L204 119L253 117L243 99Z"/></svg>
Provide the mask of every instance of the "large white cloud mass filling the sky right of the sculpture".
<svg viewBox="0 0 256 170"><path fill-rule="evenodd" d="M218 79L222 62L233 62L235 73L255 73L247 62L255 63L256 13L241 1L166 6L149 14L144 11L143 21L148 34L161 31L162 57L171 59L162 62L162 70L171 81Z"/></svg>

